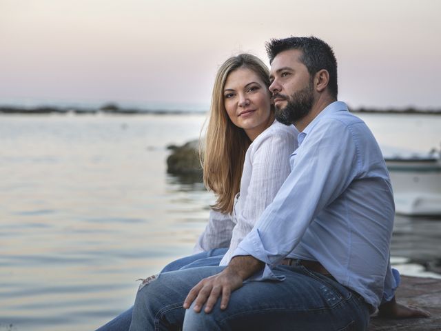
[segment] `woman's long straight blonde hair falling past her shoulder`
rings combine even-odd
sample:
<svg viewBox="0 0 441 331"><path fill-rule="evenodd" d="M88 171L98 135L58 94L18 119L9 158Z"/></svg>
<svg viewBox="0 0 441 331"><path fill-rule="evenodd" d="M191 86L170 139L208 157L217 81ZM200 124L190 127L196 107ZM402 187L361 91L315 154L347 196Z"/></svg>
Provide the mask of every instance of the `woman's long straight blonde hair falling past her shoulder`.
<svg viewBox="0 0 441 331"><path fill-rule="evenodd" d="M231 72L239 68L252 70L265 86L269 87L267 66L252 54L230 57L216 74L209 122L205 132L205 146L201 146L199 152L205 187L212 190L217 198L211 207L223 213L231 213L233 210L234 196L240 190L245 153L251 144L245 130L235 126L229 119L224 105L225 81ZM274 109L271 111L274 112Z"/></svg>

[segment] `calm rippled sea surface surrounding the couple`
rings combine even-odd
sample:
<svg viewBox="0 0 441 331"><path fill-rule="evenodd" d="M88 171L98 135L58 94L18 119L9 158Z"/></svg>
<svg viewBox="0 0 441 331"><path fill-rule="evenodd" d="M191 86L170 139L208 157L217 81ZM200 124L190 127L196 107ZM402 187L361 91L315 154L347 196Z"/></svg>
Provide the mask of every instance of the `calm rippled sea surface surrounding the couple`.
<svg viewBox="0 0 441 331"><path fill-rule="evenodd" d="M380 145L439 148L441 116L363 114ZM214 201L166 174L205 115L0 116L0 330L94 330L190 254ZM441 277L441 219L396 217L393 264Z"/></svg>

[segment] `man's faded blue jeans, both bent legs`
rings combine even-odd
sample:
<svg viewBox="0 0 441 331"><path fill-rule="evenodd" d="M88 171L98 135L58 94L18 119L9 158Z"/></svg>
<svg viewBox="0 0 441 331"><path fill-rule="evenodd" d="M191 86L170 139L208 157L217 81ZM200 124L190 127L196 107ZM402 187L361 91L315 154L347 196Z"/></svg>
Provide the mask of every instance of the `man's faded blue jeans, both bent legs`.
<svg viewBox="0 0 441 331"><path fill-rule="evenodd" d="M225 267L165 272L136 295L130 331L367 330L369 305L331 277L302 265L278 265L285 281L246 282L209 314L183 309L189 290Z"/></svg>

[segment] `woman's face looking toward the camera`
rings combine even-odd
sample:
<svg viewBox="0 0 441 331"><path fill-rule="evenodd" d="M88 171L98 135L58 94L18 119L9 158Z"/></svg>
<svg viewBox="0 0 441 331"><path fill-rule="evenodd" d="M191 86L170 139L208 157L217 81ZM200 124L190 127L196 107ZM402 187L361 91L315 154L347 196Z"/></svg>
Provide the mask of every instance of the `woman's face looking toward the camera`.
<svg viewBox="0 0 441 331"><path fill-rule="evenodd" d="M229 73L223 100L229 119L235 126L243 128L252 141L274 119L267 86L256 72L248 68L238 68Z"/></svg>

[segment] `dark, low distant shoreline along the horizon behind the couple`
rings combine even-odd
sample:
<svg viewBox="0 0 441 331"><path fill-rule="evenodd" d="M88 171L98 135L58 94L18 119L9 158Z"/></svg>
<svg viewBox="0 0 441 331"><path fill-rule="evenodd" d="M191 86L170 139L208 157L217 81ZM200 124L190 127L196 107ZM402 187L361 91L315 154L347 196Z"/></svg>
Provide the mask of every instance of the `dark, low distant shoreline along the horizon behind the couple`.
<svg viewBox="0 0 441 331"><path fill-rule="evenodd" d="M441 115L441 108L416 109L416 108L350 108L354 113L377 113L377 114L432 114ZM168 110L168 109L140 109L140 108L120 108L115 104L107 104L100 108L81 108L81 107L57 107L57 106L37 106L31 108L17 106L0 106L0 114L205 114L201 110Z"/></svg>

